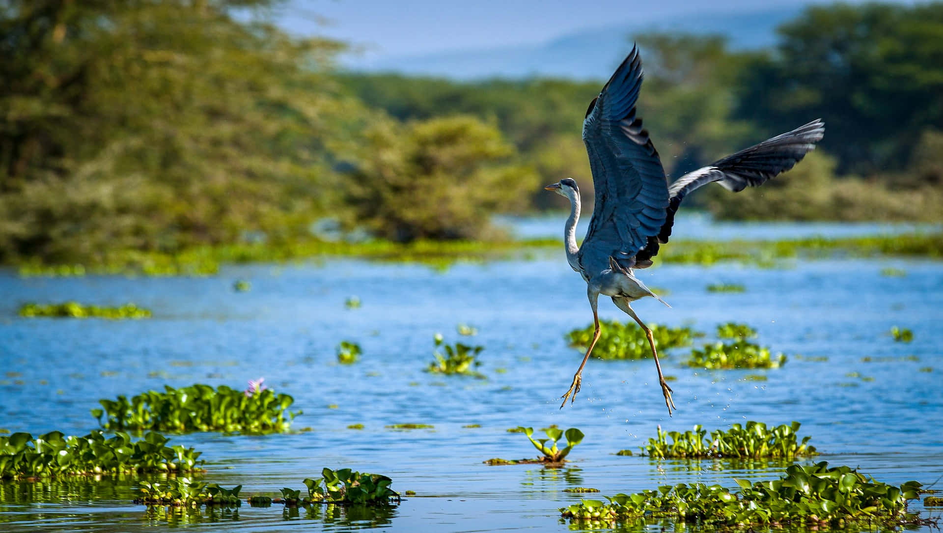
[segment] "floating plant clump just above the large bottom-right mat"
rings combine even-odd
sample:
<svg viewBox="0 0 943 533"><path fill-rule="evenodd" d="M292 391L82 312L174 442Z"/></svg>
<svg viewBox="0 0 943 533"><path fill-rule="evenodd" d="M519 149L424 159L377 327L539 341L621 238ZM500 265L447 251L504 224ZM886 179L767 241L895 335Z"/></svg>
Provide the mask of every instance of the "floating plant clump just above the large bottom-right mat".
<svg viewBox="0 0 943 533"><path fill-rule="evenodd" d="M768 428L761 422L735 424L724 431L711 431L710 439L701 425L684 433L663 431L641 447L642 455L650 458L796 458L818 455L815 446L807 445L811 437L799 441L798 422ZM668 442L668 437L671 442Z"/></svg>

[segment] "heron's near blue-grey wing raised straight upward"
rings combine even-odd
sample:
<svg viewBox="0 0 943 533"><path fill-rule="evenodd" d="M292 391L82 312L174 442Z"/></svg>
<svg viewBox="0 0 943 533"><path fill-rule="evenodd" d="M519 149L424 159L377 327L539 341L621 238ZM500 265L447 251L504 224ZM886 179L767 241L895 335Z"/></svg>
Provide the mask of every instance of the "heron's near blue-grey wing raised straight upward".
<svg viewBox="0 0 943 533"><path fill-rule="evenodd" d="M642 65L633 47L583 121L596 203L580 264L593 276L609 268L609 258L632 268L634 257L658 235L669 206L661 159L636 117Z"/></svg>

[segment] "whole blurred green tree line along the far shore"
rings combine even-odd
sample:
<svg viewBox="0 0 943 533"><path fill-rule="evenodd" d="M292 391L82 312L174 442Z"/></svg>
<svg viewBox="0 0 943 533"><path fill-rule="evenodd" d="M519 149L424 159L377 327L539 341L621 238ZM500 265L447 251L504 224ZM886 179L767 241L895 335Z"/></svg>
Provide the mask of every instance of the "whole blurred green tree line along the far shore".
<svg viewBox="0 0 943 533"><path fill-rule="evenodd" d="M0 0L0 261L290 242L324 216L482 238L580 179L600 82L335 71L278 0ZM642 35L640 115L670 175L821 117L792 175L695 199L728 218L940 220L943 4L809 8L773 50ZM779 190L776 190L778 187ZM586 198L591 204L591 198Z"/></svg>

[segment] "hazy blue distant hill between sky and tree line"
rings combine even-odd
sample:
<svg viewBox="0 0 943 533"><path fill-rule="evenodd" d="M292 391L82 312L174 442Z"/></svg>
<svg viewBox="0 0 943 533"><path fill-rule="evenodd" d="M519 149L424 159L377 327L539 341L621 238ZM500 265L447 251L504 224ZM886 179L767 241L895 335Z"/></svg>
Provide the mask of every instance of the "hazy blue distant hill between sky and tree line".
<svg viewBox="0 0 943 533"><path fill-rule="evenodd" d="M525 46L442 52L420 56L345 58L356 72L393 72L405 75L437 75L454 79L526 77L530 75L571 79L604 79L632 48L633 33L677 31L722 34L731 48L769 47L776 42L776 26L795 18L802 7L769 8L752 12L691 14L654 23L631 22L587 29L550 42Z"/></svg>

